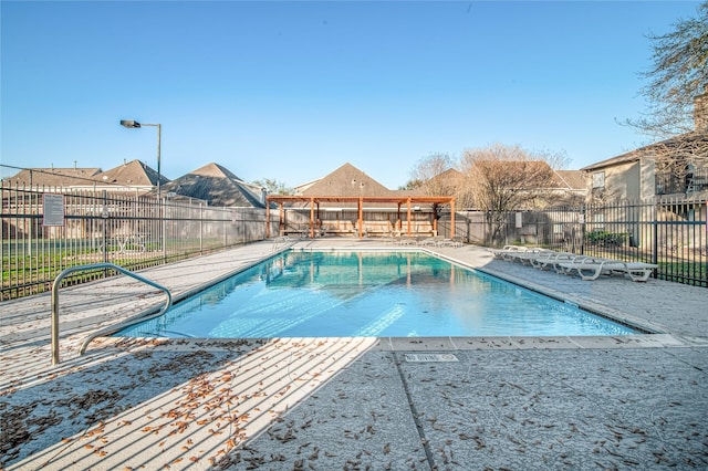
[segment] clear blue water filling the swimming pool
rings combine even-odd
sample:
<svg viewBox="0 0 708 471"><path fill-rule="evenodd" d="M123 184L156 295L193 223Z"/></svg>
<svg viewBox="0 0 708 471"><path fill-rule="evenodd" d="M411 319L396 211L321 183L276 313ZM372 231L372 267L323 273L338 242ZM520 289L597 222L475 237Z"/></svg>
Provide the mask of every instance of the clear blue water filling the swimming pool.
<svg viewBox="0 0 708 471"><path fill-rule="evenodd" d="M287 251L116 336L556 336L636 332L425 252Z"/></svg>

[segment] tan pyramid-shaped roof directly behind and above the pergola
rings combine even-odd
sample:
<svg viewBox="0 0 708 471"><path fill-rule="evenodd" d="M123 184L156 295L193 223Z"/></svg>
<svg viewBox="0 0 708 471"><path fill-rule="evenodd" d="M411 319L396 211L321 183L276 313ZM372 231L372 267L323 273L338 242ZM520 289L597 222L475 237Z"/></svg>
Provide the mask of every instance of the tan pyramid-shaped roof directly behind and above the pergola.
<svg viewBox="0 0 708 471"><path fill-rule="evenodd" d="M302 191L303 196L383 197L395 192L346 163Z"/></svg>

